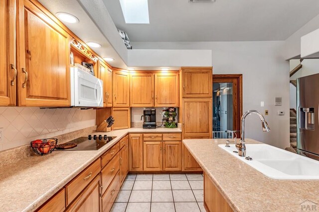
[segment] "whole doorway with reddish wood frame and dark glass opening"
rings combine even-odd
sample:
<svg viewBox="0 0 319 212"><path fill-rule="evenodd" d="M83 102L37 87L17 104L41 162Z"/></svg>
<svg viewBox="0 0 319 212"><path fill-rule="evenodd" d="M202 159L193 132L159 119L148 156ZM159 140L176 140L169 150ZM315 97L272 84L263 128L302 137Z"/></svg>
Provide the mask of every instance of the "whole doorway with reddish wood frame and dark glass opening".
<svg viewBox="0 0 319 212"><path fill-rule="evenodd" d="M241 74L213 75L214 138L239 137L242 96Z"/></svg>

